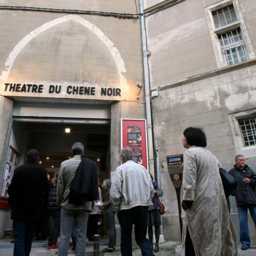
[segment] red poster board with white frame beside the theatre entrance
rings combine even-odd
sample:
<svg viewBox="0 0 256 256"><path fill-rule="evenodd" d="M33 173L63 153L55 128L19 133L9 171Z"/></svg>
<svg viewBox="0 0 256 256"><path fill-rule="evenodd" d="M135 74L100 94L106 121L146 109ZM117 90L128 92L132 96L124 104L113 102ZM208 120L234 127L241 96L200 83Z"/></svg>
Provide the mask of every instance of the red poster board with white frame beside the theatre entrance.
<svg viewBox="0 0 256 256"><path fill-rule="evenodd" d="M134 145L128 143L128 126L140 126L141 133L141 145L135 142ZM123 138L127 138L124 140ZM144 138L143 138L144 137ZM145 158L146 161L142 161L142 165L148 170L148 150L147 150L147 130L146 130L146 119L121 119L121 148L131 147L134 150L139 150L141 148L142 160ZM144 156L144 157L143 157Z"/></svg>

